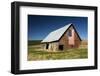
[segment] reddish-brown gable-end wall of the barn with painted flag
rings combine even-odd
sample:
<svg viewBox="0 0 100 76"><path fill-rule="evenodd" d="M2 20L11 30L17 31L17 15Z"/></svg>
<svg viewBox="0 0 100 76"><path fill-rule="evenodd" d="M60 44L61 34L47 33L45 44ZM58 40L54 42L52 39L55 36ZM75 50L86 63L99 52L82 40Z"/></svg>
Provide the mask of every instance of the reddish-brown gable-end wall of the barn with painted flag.
<svg viewBox="0 0 100 76"><path fill-rule="evenodd" d="M67 32L69 30L72 30L71 37L69 37L67 35ZM79 37L77 36L73 27L70 27L69 30L61 38L61 40L59 41L59 45L64 45L64 49L66 49L66 48L78 48L80 46L81 41L80 41Z"/></svg>

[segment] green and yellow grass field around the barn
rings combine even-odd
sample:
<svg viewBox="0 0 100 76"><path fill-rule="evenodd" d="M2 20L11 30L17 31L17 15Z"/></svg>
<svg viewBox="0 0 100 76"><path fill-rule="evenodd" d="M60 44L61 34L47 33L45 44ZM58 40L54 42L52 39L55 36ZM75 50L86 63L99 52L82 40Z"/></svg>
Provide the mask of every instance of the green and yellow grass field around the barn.
<svg viewBox="0 0 100 76"><path fill-rule="evenodd" d="M28 60L57 60L57 59L84 59L88 58L87 42L83 41L79 48L65 49L63 51L48 52L37 44L39 41L28 45ZM34 43L34 44L32 44Z"/></svg>

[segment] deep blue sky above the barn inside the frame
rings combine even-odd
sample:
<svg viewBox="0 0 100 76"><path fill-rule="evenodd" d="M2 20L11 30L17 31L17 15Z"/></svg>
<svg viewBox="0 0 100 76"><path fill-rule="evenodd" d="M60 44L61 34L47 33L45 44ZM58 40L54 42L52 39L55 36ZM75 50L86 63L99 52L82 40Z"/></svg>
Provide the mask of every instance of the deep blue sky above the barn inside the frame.
<svg viewBox="0 0 100 76"><path fill-rule="evenodd" d="M28 15L28 40L43 40L50 32L73 23L82 40L87 40L88 18Z"/></svg>

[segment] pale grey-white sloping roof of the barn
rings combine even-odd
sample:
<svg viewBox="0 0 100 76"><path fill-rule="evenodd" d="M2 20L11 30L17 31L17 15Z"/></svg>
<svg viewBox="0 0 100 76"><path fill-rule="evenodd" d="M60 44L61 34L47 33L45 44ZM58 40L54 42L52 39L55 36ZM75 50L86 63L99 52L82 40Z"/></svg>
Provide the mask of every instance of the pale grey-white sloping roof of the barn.
<svg viewBox="0 0 100 76"><path fill-rule="evenodd" d="M49 33L49 35L44 38L44 40L42 40L43 42L53 42L53 41L57 41L61 38L61 36L64 34L64 32L71 26L71 23L68 25L65 25L62 28L59 28L55 31L52 31L51 33Z"/></svg>

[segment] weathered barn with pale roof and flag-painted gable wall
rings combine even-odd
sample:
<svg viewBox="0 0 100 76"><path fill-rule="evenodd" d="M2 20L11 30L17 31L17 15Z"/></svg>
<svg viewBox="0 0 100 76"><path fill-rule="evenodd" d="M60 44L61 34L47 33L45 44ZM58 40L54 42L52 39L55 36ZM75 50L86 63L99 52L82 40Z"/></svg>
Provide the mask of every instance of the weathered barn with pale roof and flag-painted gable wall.
<svg viewBox="0 0 100 76"><path fill-rule="evenodd" d="M52 31L41 43L45 50L57 51L78 48L81 43L81 38L71 23Z"/></svg>

